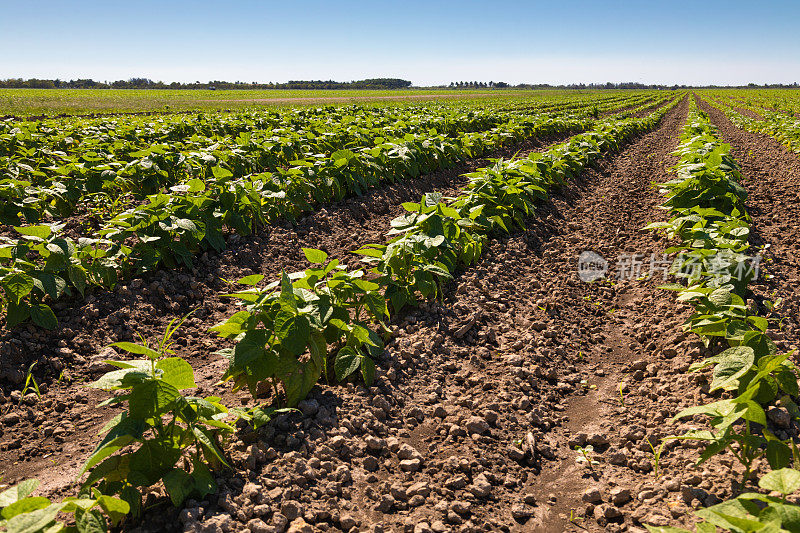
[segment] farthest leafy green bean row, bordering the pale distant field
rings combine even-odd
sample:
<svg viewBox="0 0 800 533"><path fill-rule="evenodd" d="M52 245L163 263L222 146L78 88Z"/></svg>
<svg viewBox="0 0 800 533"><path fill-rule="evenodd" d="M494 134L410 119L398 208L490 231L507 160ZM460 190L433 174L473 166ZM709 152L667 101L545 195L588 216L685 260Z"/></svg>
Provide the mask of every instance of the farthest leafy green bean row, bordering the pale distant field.
<svg viewBox="0 0 800 533"><path fill-rule="evenodd" d="M649 96L648 96L649 97ZM590 106L611 109L625 105L635 96L581 96L577 99L557 97L526 106L534 113L580 111ZM201 141L236 137L242 133L291 133L307 130L321 135L340 134L346 126L367 130L407 123L436 128L446 133L451 123L462 116L513 111L507 103L486 105L419 105L399 108L342 106L291 109L285 111L249 111L197 115L150 117L112 117L96 119L65 118L52 121L0 122L0 156L26 156L28 151L58 150L70 155L94 151L135 152L153 144L173 144L189 139ZM357 130L355 130L357 131ZM122 144L117 144L121 142Z"/></svg>

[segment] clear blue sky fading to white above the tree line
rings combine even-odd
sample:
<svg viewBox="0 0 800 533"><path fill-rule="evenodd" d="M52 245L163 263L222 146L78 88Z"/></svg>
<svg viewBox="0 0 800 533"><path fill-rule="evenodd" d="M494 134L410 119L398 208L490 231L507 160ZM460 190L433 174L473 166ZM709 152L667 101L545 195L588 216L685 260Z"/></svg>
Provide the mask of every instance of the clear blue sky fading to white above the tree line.
<svg viewBox="0 0 800 533"><path fill-rule="evenodd" d="M0 78L800 82L800 2L0 0Z"/></svg>

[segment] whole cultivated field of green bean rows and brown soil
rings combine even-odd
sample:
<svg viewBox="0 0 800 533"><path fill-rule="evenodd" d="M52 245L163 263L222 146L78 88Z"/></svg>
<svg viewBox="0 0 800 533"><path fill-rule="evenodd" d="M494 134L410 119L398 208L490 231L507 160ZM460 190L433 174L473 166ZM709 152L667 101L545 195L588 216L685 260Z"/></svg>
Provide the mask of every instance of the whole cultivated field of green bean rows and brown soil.
<svg viewBox="0 0 800 533"><path fill-rule="evenodd" d="M797 91L9 91L9 531L800 530Z"/></svg>

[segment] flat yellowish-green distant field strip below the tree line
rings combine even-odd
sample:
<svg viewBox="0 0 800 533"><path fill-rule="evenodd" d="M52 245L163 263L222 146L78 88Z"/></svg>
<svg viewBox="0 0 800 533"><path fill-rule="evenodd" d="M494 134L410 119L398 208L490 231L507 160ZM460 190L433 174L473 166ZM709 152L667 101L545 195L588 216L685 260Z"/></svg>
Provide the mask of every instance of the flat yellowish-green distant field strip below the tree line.
<svg viewBox="0 0 800 533"><path fill-rule="evenodd" d="M507 98L556 91L0 89L0 116L239 109L368 101Z"/></svg>

